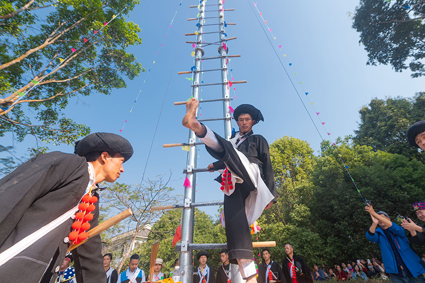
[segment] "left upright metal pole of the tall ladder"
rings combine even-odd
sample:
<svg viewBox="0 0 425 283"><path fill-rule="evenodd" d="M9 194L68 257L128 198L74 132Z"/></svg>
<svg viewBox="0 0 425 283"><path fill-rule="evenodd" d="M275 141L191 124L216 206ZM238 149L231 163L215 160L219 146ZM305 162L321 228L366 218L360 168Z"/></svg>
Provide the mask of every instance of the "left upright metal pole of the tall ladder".
<svg viewBox="0 0 425 283"><path fill-rule="evenodd" d="M203 26L202 20L205 15L205 0L202 0L199 8L199 25L198 34L196 38L195 48L195 67L197 70L201 69L203 56L202 49L202 33ZM192 96L199 100L199 85L201 72L194 72ZM196 110L196 117L199 115L199 108ZM189 130L189 143L196 141L196 135L193 131ZM183 283L192 283L193 281L193 266L192 266L192 250L187 249L188 244L193 242L193 219L194 207L190 207L190 203L195 200L195 187L196 187L196 173L191 170L196 167L197 146L190 146L187 153L187 173L186 178L190 181L191 188L184 188L184 209L181 212L181 250L179 253L179 266L180 266L180 279Z"/></svg>

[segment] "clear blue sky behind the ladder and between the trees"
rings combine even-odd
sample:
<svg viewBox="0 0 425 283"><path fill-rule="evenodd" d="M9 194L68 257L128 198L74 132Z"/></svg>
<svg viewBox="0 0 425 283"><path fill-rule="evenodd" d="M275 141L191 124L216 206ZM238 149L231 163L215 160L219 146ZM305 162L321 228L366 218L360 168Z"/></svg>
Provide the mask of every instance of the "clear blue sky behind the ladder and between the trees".
<svg viewBox="0 0 425 283"><path fill-rule="evenodd" d="M195 40L195 36L184 36L183 33L197 30L197 21L187 21L186 18L196 17L197 9L189 9L188 6L196 5L198 1L182 0L180 6L179 2L142 0L130 12L128 20L140 26L142 44L130 47L129 51L135 54L146 72L132 81L128 80L127 88L113 90L110 96L92 94L81 98L84 104L72 98L64 112L77 122L90 126L92 132L121 134L131 142L134 155L124 164L125 172L118 179L127 184L140 182L158 125L146 176L153 179L156 175L169 174L171 171L172 179L176 181L170 183L170 186L175 188L177 194L182 194L184 175L181 172L186 164L187 152L180 147L162 148L164 143L187 142L188 137L188 130L181 126L184 106L174 106L173 102L186 100L191 95L190 81L185 79L188 75L178 75L177 71L190 70L193 65L193 57L190 56L193 48L185 41ZM292 136L306 140L317 153L321 140L267 37L271 39L284 67L296 83L323 137L327 137L326 131L331 133L329 137L332 139L353 134L359 121L358 110L369 103L371 98L412 96L423 90L423 78L412 79L409 71L397 73L390 66L366 65L367 54L363 46L359 45L359 34L351 28L352 20L347 15L347 12L354 12L358 4L356 0L256 2L275 40L268 31L264 34L257 21L259 15L250 0L225 0L224 4L225 8L235 9L224 13L227 22L236 23L235 26L228 25L225 30L228 37L237 36L236 40L227 42L229 54L241 55L230 61L232 76L234 80L247 80L246 84L235 85L237 99L231 105L235 108L239 104L249 103L259 108L265 121L254 126L253 130L254 133L262 134L269 143L285 135ZM215 3L214 0L207 1L207 4ZM216 9L216 6L208 8ZM174 14L172 27L169 28ZM207 13L207 16L216 15L217 12ZM206 23L217 21L216 18L207 19ZM267 28L264 23L261 24ZM217 25L205 28L206 32L217 30ZM205 35L206 42L217 40L217 33ZM159 49L162 41L163 46ZM278 45L281 45L280 49ZM156 54L158 49L159 53ZM216 45L205 47L204 50L205 56L218 54ZM283 54L286 56L283 57ZM289 63L292 65L289 66ZM203 68L219 68L219 61L205 61ZM151 69L149 74L148 69ZM294 72L297 73L296 77ZM303 89L297 79L302 81ZM205 73L202 80L205 83L219 82L220 73ZM134 104L141 87L140 96ZM221 97L220 86L202 89L203 99ZM309 93L308 98L320 113L321 120L326 122L326 131L321 128L303 90ZM129 113L132 106L133 110ZM202 106L202 118L222 116L219 102L204 103ZM120 133L125 120L127 123ZM217 133L223 133L222 121L209 122L207 125ZM10 136L2 138L1 144L11 143ZM15 143L15 146L19 155L19 152L34 146L33 138L27 138L20 144ZM73 151L71 146L51 146L51 149ZM206 167L214 160L203 147L199 149L197 166ZM198 174L196 201L222 199L219 184L212 180L215 176L215 173ZM212 215L216 210L216 207L205 209Z"/></svg>

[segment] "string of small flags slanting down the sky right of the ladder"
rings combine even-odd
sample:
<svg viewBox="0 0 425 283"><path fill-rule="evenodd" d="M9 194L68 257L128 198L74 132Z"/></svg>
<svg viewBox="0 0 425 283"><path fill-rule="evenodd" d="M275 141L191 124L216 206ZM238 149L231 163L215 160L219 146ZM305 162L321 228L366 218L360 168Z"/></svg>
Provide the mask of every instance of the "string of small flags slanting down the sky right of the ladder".
<svg viewBox="0 0 425 283"><path fill-rule="evenodd" d="M389 0L386 0L386 1L389 1ZM252 0L251 0L251 2L252 2ZM253 2L252 2L252 3L253 3ZM262 21L264 22L265 26L267 27L268 31L270 32L271 37L273 37L273 39L274 39L274 40L276 40L276 37L275 37L275 36L273 35L273 33L271 32L271 28L267 25L267 20L265 20L265 19L264 19L263 15L262 15L262 12L260 12L260 11L259 11L259 9L258 9L258 7L257 7L257 3L253 3L253 5L254 5L254 7L256 8L257 12L259 13L259 16L261 17L261 19L262 19ZM270 43L271 43L271 41L270 41ZM293 64L292 64L292 62L290 62L290 61L288 60L288 58L286 58L286 54L283 52L283 50L282 50L282 48L281 48L281 47L282 47L282 45L278 45L278 49L279 49L280 51L282 51L282 53L283 53L283 58L284 58L284 60L286 60L287 65L288 65L289 67L292 67L292 65L293 65ZM275 50L274 46L273 46L273 49ZM276 53L276 55L277 55L277 56L279 56L277 53ZM281 61L280 61L280 62L281 62ZM298 93L298 91L296 90L296 87L295 87L295 85L296 85L296 84L294 84L294 83L293 83L293 80L292 80L291 76L289 76L289 72L287 72L287 71L286 71L286 68L285 68L285 66L283 65L283 63L282 63L282 67L285 69L285 72L286 72L286 74L287 74L287 76L288 76L289 80L292 82L292 85L293 85L293 87L295 88L295 91ZM302 89L302 92L305 94L305 97L307 98L308 102L310 103L311 108L313 109L314 113L316 114L316 117L317 117L317 119L319 120L319 122L320 122L320 124L321 124L321 126L322 126L323 130L326 132L327 139L328 139L328 140L332 143L332 145L333 145L333 146L335 146L335 150L337 150L337 148L336 148L336 143L335 143L334 141L332 141L332 138L330 137L331 133L329 133L329 132L326 130L326 127L325 127L326 122L323 122L323 121L321 120L321 118L320 118L320 116L319 116L320 112L318 112L318 111L315 109L315 107L314 107L314 105L313 105L314 103L310 100L310 98L309 98L309 96L308 96L309 92L306 92L306 91L305 91L304 87L302 86L302 81L300 81L300 80L298 79L297 72L293 72L293 75L294 75L294 77L296 78L296 81L298 82L299 87ZM299 96L299 95L298 95L298 96ZM302 103L302 104L304 104L304 102L302 101L301 96L299 96L299 98L300 98L300 100L301 100L301 103ZM305 107L305 105L304 105L304 107ZM306 111L307 111L307 113L308 113L307 108L305 108L305 110L306 110ZM308 115L310 116L310 114L309 114L309 113L308 113ZM311 116L310 116L310 117L311 117ZM314 122L313 122L313 123L314 123ZM315 126L315 125L314 125L314 126ZM316 128L316 130L317 130L317 132L318 132L319 136L320 136L320 137L322 138L322 140L323 140L323 137L321 136L321 134L320 134L320 132L318 131L318 129L317 129L317 127L316 127L316 126L315 126L315 128ZM358 194L360 195L361 199L364 201L363 197L361 196L360 190L357 188L357 185L355 184L354 179L351 177L351 174L350 174L350 172L349 172L349 170L348 170L349 166L345 164L345 162L343 161L343 159L342 159L342 157L341 157L341 155L340 155L339 153L338 153L338 157L339 157L339 159L341 160L342 165L344 166L345 171L348 173L348 176L350 177L350 179L351 179L352 183L354 184L355 189L357 190L357 192L358 192Z"/></svg>

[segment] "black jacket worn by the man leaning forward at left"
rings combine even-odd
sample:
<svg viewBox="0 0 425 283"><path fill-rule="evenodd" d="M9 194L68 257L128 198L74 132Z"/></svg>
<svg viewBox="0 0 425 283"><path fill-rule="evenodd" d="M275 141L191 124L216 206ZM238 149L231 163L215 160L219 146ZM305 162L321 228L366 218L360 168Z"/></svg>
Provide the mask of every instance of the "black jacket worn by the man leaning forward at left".
<svg viewBox="0 0 425 283"><path fill-rule="evenodd" d="M0 180L0 253L75 207L88 184L84 157L62 152L39 154ZM97 194L94 194L98 196ZM95 204L91 228L97 226ZM3 282L54 282L65 258L69 218L0 267ZM106 282L100 236L72 251L78 283Z"/></svg>

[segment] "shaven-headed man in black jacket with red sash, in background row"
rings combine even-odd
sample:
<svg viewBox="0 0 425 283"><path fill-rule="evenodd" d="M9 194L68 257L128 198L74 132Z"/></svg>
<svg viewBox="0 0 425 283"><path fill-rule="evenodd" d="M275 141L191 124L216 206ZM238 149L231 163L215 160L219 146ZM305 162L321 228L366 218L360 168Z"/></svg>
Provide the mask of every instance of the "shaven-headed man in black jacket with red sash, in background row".
<svg viewBox="0 0 425 283"><path fill-rule="evenodd" d="M285 245L286 258L282 262L282 271L287 283L312 283L310 271L304 260L293 253L290 244Z"/></svg>

